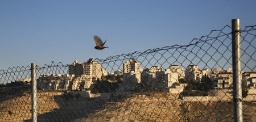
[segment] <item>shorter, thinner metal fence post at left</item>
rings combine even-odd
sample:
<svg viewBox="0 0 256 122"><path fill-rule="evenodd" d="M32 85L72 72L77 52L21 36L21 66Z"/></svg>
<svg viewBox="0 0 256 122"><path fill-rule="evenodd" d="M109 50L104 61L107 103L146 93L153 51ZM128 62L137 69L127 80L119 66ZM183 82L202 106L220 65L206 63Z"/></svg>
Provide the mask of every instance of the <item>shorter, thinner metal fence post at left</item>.
<svg viewBox="0 0 256 122"><path fill-rule="evenodd" d="M36 64L31 64L31 82L32 82L32 121L36 122L37 119L37 97L36 97Z"/></svg>

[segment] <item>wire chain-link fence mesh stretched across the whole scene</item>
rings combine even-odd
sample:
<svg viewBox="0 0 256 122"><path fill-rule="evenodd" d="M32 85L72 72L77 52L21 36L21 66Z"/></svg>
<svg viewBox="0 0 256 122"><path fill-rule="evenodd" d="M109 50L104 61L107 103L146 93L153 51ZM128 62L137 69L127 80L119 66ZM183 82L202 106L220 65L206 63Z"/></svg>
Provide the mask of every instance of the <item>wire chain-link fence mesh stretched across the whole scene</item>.
<svg viewBox="0 0 256 122"><path fill-rule="evenodd" d="M239 101L242 119L256 121L256 26L238 33L242 99L227 25L188 45L36 66L36 84L31 66L0 70L0 121L233 121Z"/></svg>

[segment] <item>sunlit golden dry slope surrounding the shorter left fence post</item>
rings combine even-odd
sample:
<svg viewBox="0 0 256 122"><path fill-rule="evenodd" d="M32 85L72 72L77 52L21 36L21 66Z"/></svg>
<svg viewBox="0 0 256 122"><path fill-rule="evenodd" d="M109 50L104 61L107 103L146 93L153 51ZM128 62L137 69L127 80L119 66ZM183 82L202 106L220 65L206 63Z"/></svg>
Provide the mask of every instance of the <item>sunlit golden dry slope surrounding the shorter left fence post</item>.
<svg viewBox="0 0 256 122"><path fill-rule="evenodd" d="M45 95L38 93L38 114L51 112L58 109L54 96L55 92ZM24 121L31 119L31 94L11 98L0 103L0 121ZM12 114L10 115L10 112Z"/></svg>

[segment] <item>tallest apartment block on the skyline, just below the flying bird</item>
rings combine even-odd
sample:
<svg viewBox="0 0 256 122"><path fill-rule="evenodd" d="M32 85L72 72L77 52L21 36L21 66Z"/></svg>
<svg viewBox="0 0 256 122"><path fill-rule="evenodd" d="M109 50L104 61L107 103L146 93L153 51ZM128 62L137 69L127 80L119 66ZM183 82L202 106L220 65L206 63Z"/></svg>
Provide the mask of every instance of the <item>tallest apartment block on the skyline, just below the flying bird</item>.
<svg viewBox="0 0 256 122"><path fill-rule="evenodd" d="M72 65L68 66L68 74L75 74L75 77L85 74L92 78L100 79L102 75L101 64L98 64L93 58L84 63L79 63L76 60Z"/></svg>

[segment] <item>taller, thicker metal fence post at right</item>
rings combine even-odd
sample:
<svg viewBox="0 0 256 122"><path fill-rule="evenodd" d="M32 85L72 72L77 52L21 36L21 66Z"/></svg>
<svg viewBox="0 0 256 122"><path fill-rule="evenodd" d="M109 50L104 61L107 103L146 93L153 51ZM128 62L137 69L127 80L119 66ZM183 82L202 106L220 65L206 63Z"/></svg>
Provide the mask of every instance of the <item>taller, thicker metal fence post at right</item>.
<svg viewBox="0 0 256 122"><path fill-rule="evenodd" d="M234 121L243 121L242 111L242 74L240 47L240 19L232 19L232 65Z"/></svg>

